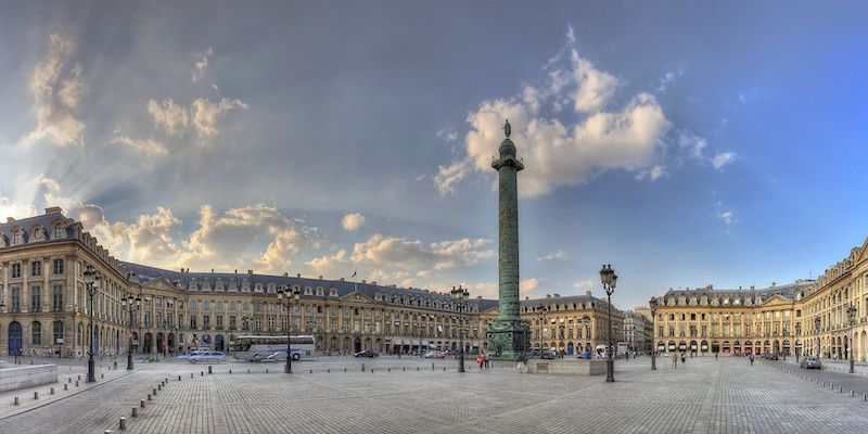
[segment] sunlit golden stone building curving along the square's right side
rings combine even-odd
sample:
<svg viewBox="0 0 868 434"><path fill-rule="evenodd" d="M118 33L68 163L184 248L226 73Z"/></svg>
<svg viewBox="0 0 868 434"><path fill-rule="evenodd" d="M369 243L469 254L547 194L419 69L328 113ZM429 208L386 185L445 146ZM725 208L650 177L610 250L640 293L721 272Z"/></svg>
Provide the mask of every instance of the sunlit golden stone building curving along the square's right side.
<svg viewBox="0 0 868 434"><path fill-rule="evenodd" d="M761 290L671 289L656 297L655 347L697 355L777 353L848 359L852 354L864 361L867 281L868 240L816 280Z"/></svg>

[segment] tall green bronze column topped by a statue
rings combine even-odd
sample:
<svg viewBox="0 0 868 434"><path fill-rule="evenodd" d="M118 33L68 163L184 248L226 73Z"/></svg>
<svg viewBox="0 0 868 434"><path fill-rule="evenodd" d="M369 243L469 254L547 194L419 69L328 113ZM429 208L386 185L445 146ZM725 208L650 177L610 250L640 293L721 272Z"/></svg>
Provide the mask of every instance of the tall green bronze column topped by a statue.
<svg viewBox="0 0 868 434"><path fill-rule="evenodd" d="M514 359L529 347L531 330L522 323L519 304L519 192L518 173L524 164L510 140L509 120L503 126L507 138L500 143L500 156L492 163L499 180L499 261L498 316L488 326L488 350L494 357Z"/></svg>

